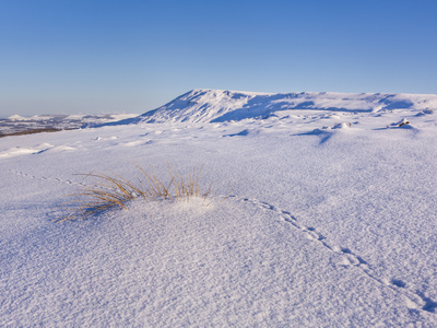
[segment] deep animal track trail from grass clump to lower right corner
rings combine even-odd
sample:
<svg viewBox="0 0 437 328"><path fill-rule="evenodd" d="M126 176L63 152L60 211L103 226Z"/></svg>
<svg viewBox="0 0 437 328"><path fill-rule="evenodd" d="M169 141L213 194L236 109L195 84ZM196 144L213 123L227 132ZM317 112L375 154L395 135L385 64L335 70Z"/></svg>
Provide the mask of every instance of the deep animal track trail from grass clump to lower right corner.
<svg viewBox="0 0 437 328"><path fill-rule="evenodd" d="M406 305L408 307L412 309L422 309L426 311L429 313L437 313L437 302L433 301L432 298L427 297L422 293L421 291L412 290L409 288L408 283L399 280L399 279L391 279L388 280L386 278L379 278L374 270L371 270L369 263L361 256L354 254L350 248L347 247L341 247L339 245L331 245L329 241L321 234L319 233L315 227L312 226L305 226L298 222L298 220L291 214L288 211L283 211L281 209L275 208L272 204L269 204L267 202L262 202L256 199L249 199L249 198L241 198L236 195L229 195L228 198L234 198L243 202L248 202L251 204L255 204L259 207L260 209L268 210L268 211L273 211L279 214L279 216L293 225L294 227L298 229L302 233L306 235L306 237L310 241L314 241L315 243L319 243L321 246L327 248L329 251L336 253L336 254L342 254L343 255L343 260L342 260L342 266L344 267L355 267L359 269L363 273L365 273L367 277L373 279L374 281L378 282L379 284L387 286L398 293L401 293L406 297Z"/></svg>

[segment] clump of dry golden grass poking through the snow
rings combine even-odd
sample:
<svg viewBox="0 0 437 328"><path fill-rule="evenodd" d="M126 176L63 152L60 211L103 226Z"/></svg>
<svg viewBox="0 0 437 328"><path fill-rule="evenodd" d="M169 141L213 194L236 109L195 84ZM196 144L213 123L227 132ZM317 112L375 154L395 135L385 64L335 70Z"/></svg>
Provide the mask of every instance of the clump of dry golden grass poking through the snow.
<svg viewBox="0 0 437 328"><path fill-rule="evenodd" d="M176 169L167 165L169 178L166 184L162 178L155 175L152 168L146 172L139 164L135 165L140 177L134 181L128 180L120 175L88 173L80 174L84 179L92 178L92 185L83 185L81 189L69 197L73 197L68 204L70 214L60 218L57 222L63 222L75 219L85 219L96 212L115 210L117 208L127 209L126 203L130 200L141 198L146 202L162 199L189 201L197 197L205 206L210 204L211 185L204 191L199 186L201 166L196 167L185 177Z"/></svg>

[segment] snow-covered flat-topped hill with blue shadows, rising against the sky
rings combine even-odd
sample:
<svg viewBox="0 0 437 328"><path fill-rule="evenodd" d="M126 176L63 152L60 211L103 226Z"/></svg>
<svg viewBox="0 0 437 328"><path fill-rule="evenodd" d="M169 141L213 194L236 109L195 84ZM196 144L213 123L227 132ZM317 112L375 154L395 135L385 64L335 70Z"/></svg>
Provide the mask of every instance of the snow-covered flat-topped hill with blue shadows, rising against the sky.
<svg viewBox="0 0 437 328"><path fill-rule="evenodd" d="M436 109L437 95L386 93L253 93L192 90L168 104L119 124L223 122L267 117L279 110L383 112ZM110 124L111 125L111 124Z"/></svg>

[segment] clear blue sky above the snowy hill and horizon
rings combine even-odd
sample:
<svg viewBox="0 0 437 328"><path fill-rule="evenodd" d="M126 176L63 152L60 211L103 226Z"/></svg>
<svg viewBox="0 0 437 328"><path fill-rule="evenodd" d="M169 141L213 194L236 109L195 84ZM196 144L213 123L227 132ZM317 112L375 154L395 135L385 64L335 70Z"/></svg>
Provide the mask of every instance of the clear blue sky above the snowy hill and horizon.
<svg viewBox="0 0 437 328"><path fill-rule="evenodd" d="M0 0L0 116L191 89L437 93L435 0Z"/></svg>

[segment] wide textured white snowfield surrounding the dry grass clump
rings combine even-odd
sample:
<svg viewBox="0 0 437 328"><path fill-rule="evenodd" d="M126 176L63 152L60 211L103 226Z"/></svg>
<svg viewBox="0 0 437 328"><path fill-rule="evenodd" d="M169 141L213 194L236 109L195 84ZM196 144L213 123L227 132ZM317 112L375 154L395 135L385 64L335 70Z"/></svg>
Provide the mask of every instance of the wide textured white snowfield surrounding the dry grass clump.
<svg viewBox="0 0 437 328"><path fill-rule="evenodd" d="M429 102L0 139L0 327L437 327ZM218 196L52 222L135 160Z"/></svg>

